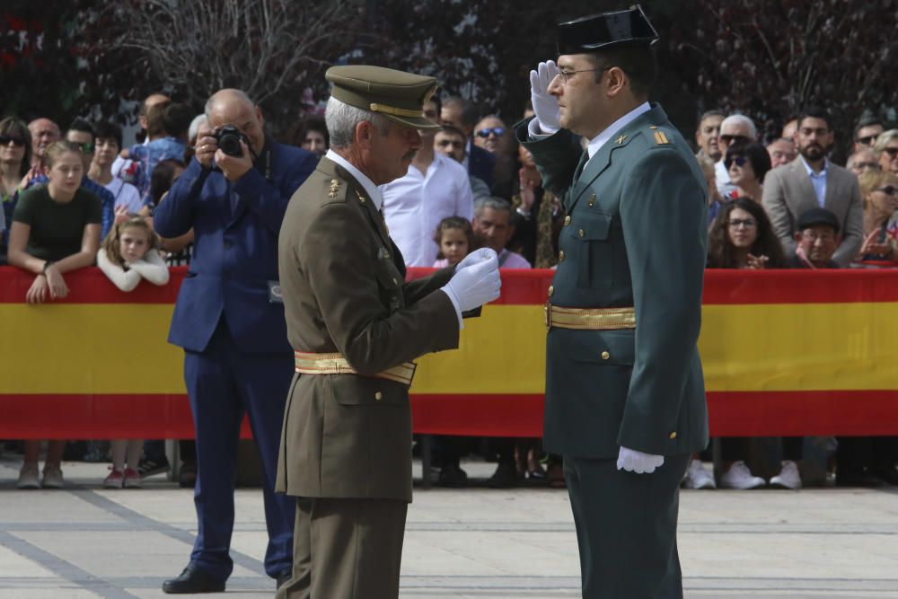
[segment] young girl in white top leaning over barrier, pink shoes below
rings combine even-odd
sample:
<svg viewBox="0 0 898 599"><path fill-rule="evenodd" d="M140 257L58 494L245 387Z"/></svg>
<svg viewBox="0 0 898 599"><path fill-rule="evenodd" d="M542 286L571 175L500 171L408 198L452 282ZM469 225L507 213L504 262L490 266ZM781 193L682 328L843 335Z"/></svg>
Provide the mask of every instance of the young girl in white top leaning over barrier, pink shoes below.
<svg viewBox="0 0 898 599"><path fill-rule="evenodd" d="M159 238L142 216L129 215L128 220L112 227L97 253L97 265L122 291L133 290L141 278L154 285L168 283L168 267L157 250ZM137 462L143 441L119 439L112 442L112 471L103 480L107 489L139 489ZM125 467L127 458L128 468Z"/></svg>

